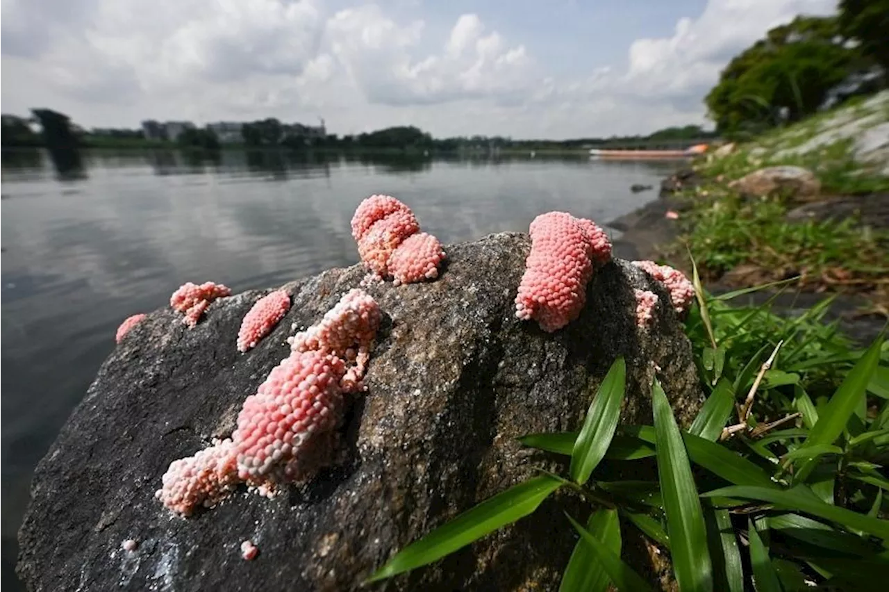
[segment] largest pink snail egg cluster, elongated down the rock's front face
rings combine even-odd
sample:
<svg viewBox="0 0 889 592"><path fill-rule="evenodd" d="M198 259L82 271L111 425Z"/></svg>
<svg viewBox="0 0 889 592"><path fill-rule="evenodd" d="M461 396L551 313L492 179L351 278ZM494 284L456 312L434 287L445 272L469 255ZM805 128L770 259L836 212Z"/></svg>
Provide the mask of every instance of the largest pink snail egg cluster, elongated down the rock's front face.
<svg viewBox="0 0 889 592"><path fill-rule="evenodd" d="M231 439L173 461L156 497L190 516L236 484L270 496L276 484L302 480L328 463L344 393L361 388L380 316L368 294L344 295L319 323L292 338L290 356L244 401Z"/></svg>

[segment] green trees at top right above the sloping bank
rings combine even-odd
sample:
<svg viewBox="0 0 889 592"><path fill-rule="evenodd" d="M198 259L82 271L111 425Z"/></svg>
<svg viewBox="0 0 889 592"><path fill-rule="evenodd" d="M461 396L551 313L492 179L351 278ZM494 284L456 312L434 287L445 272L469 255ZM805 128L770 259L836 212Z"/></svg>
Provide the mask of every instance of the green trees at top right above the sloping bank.
<svg viewBox="0 0 889 592"><path fill-rule="evenodd" d="M887 85L889 0L843 0L830 17L775 27L722 71L705 102L717 131L744 137Z"/></svg>

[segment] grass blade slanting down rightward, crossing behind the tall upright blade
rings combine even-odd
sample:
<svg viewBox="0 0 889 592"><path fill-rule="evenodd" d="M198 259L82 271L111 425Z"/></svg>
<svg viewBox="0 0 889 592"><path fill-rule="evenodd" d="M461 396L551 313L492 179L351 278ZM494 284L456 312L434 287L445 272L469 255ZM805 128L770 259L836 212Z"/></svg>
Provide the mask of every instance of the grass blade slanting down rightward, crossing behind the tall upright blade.
<svg viewBox="0 0 889 592"><path fill-rule="evenodd" d="M627 431L631 435L645 440L645 442L654 443L656 440L654 429L650 426L635 426L627 428ZM765 470L757 467L757 465L739 454L732 452L722 444L716 444L685 432L682 434L682 439L685 443L685 450L694 464L706 468L729 483L778 487L778 484L773 483Z"/></svg>

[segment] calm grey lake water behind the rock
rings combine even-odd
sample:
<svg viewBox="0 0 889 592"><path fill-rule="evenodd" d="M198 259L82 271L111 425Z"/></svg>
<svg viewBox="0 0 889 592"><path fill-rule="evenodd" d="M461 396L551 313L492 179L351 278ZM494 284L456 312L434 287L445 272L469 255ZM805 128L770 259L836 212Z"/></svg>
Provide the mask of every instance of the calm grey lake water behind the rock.
<svg viewBox="0 0 889 592"><path fill-rule="evenodd" d="M675 163L308 159L225 152L0 154L0 589L31 472L115 347L126 316L187 281L235 292L357 262L349 220L372 193L453 243L563 210L606 222L653 199Z"/></svg>

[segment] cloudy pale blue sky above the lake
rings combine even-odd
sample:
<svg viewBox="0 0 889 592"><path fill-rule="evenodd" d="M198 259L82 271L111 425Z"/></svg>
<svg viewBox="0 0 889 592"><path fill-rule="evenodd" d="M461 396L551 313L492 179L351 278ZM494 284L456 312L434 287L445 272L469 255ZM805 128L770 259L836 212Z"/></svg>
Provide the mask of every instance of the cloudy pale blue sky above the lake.
<svg viewBox="0 0 889 592"><path fill-rule="evenodd" d="M704 123L719 70L836 0L0 0L0 111L567 138Z"/></svg>

